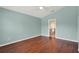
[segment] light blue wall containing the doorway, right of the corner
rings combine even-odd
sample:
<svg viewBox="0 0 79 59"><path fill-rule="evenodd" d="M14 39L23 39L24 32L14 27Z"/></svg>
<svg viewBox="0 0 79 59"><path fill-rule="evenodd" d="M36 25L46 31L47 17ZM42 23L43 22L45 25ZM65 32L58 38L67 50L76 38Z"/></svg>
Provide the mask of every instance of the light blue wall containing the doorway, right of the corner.
<svg viewBox="0 0 79 59"><path fill-rule="evenodd" d="M77 40L77 7L64 7L62 10L42 19L42 35L48 35L48 20L56 18L56 37Z"/></svg>

